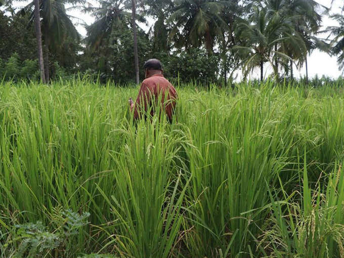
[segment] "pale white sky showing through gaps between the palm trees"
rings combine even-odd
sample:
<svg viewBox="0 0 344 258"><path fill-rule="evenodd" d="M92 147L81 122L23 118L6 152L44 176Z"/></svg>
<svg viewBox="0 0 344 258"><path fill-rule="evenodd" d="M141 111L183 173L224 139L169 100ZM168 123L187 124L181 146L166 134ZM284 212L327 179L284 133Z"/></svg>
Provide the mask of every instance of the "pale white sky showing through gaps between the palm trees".
<svg viewBox="0 0 344 258"><path fill-rule="evenodd" d="M331 7L331 2L332 2L331 0L316 0L316 1L325 7L328 7L328 8ZM91 0L91 3L92 3L92 0ZM18 4L18 6L22 6L22 5L23 5L23 2L20 2ZM339 13L341 11L340 7L342 7L342 5L343 5L343 0L334 0L332 4L331 13ZM84 14L80 12L79 10L68 11L68 14L71 16L80 18L87 25L90 25L94 22L94 18L92 16L90 16L89 14ZM73 21L75 23L79 23L79 20L77 19L74 19ZM152 25L154 21L152 19L148 19L148 22L151 23L150 25ZM322 22L323 29L325 29L328 26L333 26L333 25L334 26L337 25L337 22L331 20L330 18L326 16L323 17L323 22ZM144 24L141 24L141 26L143 29L148 29L148 27L145 26ZM83 25L77 24L76 28L82 36L86 35L86 30L83 27ZM327 37L326 34L319 35L319 36L323 38ZM269 65L265 65L265 76L271 74L272 71L273 71L272 67L269 67ZM341 71L338 70L338 66L336 63L336 57L330 57L328 54L321 53L318 50L315 50L308 59L308 71L309 71L310 77L314 77L315 75L318 75L321 77L322 75L325 75L332 78L337 78L338 76L341 75ZM300 70L297 70L296 67L294 67L294 73L296 77L305 76L306 67L302 67ZM238 77L241 77L241 72L238 71L237 75ZM251 78L258 78L259 76L260 76L259 70L255 70L251 74Z"/></svg>

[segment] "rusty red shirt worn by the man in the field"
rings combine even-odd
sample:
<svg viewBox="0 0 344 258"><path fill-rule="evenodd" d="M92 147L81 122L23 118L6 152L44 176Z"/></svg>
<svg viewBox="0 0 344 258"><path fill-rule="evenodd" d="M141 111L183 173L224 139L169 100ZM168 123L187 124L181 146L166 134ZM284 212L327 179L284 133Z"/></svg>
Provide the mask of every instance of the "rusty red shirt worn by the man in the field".
<svg viewBox="0 0 344 258"><path fill-rule="evenodd" d="M168 120L172 121L173 112L176 107L177 91L162 74L154 74L145 79L141 84L134 107L134 118L141 117L140 113L143 109L145 112L151 109L150 114L154 115L152 104L157 105L160 99Z"/></svg>

